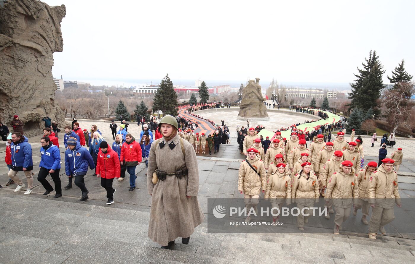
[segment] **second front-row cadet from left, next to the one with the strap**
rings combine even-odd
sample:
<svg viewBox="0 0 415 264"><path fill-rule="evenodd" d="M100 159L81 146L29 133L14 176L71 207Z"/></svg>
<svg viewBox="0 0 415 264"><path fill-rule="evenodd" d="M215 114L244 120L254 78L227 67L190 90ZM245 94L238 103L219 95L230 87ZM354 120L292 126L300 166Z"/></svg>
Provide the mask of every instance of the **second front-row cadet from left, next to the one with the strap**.
<svg viewBox="0 0 415 264"><path fill-rule="evenodd" d="M271 200L272 207L280 209L283 203L291 204L291 178L286 175L286 164L278 163L277 170L269 176L269 181L266 184L265 199ZM279 216L273 216L274 222L278 221Z"/></svg>

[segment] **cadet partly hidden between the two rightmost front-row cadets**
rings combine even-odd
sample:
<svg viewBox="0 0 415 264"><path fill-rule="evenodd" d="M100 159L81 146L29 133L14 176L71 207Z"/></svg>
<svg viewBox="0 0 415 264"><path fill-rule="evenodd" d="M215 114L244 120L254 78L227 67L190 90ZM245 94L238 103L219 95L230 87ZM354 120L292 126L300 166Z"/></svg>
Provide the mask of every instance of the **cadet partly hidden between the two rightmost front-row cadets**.
<svg viewBox="0 0 415 264"><path fill-rule="evenodd" d="M354 207L353 215L356 216L357 210L362 209L361 221L367 225L369 224L366 217L369 216L369 200L367 199L367 187L370 175L378 168L378 163L371 161L367 163L364 169L361 169L357 175L357 183L359 184L359 204Z"/></svg>

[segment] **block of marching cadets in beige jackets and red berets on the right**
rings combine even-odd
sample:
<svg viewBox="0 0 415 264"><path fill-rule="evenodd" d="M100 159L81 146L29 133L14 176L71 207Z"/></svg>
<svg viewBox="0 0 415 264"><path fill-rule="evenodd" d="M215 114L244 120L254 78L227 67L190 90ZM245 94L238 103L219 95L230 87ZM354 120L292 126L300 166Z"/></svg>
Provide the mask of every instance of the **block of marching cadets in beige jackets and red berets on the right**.
<svg viewBox="0 0 415 264"><path fill-rule="evenodd" d="M337 133L334 142L323 142L323 135L306 148L305 140L298 140L296 133L283 144L277 134L271 146L264 153L259 136L254 128L244 139L244 154L247 158L239 168L238 190L244 194L247 212L251 208L257 212L259 195L264 194L273 207L296 203L304 214L297 216L299 230L308 223L312 207L320 199L325 199L330 219L334 214L333 233L339 234L342 223L352 213L356 216L362 210L361 221L369 225L369 238L376 239L378 231L386 234L384 226L395 218L393 208L401 206L398 175L394 166L401 163L402 149L392 158L384 158L382 164L374 161L361 168L364 157L359 142L346 142L344 133ZM395 159L396 158L396 159ZM368 220L369 209L372 216ZM273 221L278 221L274 216ZM248 215L246 222L251 221Z"/></svg>

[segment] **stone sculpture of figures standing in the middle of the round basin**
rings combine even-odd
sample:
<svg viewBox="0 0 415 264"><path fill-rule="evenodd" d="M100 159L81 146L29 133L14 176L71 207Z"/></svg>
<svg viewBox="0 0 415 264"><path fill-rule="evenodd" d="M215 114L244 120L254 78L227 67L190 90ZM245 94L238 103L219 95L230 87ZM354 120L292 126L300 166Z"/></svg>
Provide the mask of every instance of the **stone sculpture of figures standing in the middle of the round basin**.
<svg viewBox="0 0 415 264"><path fill-rule="evenodd" d="M242 92L242 100L239 103L240 110L237 119L249 119L250 121L269 120L264 101L266 101L266 98L262 96L259 78L256 78L255 81L249 80L248 85Z"/></svg>

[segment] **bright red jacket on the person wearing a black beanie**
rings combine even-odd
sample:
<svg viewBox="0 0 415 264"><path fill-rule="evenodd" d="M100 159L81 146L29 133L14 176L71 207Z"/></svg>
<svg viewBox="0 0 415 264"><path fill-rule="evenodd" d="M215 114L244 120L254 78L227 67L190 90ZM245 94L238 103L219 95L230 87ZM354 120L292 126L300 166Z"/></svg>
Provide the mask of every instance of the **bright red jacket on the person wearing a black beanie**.
<svg viewBox="0 0 415 264"><path fill-rule="evenodd" d="M101 178L113 179L120 177L120 161L117 152L108 148L107 153L98 151L96 174L100 174Z"/></svg>

